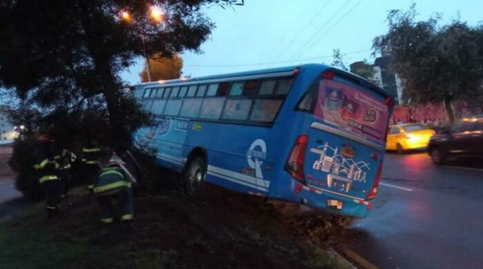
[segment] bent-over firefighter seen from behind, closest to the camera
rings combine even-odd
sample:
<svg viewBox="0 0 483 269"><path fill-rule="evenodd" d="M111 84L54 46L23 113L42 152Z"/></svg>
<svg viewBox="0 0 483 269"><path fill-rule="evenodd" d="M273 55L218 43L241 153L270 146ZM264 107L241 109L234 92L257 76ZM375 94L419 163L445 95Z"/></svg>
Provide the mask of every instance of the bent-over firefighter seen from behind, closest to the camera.
<svg viewBox="0 0 483 269"><path fill-rule="evenodd" d="M135 180L121 160L110 159L99 171L93 191L101 206L101 222L111 223L116 217L130 221L134 217L131 186Z"/></svg>

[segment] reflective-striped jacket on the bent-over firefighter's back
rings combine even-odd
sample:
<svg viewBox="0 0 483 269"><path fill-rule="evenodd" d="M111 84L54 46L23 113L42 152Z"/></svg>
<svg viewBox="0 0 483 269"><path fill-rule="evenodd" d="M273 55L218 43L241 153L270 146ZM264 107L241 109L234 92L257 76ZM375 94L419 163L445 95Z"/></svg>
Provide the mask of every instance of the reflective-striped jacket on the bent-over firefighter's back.
<svg viewBox="0 0 483 269"><path fill-rule="evenodd" d="M120 167L108 167L99 171L94 182L94 193L108 195L124 188L130 188L131 182Z"/></svg>

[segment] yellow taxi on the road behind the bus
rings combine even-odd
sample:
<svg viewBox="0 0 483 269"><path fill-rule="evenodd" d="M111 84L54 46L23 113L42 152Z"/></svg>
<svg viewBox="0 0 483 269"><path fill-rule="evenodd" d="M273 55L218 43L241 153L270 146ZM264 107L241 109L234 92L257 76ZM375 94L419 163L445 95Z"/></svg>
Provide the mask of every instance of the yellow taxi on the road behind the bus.
<svg viewBox="0 0 483 269"><path fill-rule="evenodd" d="M386 150L404 153L408 149L426 149L435 131L420 124L392 125L388 129Z"/></svg>

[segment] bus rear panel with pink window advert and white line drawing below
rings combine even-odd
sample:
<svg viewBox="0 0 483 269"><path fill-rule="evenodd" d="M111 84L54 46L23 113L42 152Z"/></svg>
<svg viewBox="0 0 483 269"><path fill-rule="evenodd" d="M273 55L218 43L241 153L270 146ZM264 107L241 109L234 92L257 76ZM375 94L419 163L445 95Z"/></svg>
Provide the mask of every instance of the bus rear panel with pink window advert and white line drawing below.
<svg viewBox="0 0 483 269"><path fill-rule="evenodd" d="M372 199L389 116L385 98L373 90L342 80L320 80L306 143L307 186L347 198Z"/></svg>

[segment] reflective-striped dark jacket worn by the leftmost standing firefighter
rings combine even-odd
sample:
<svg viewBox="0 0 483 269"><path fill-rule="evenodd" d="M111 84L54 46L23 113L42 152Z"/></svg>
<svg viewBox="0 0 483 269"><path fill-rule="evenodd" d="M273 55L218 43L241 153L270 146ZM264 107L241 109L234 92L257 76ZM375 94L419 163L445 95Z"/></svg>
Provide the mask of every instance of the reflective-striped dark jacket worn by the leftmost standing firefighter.
<svg viewBox="0 0 483 269"><path fill-rule="evenodd" d="M37 171L40 184L50 180L59 180L57 176L59 163L55 160L55 156L49 147L49 143L40 144L35 154L37 163L34 164L34 169Z"/></svg>

